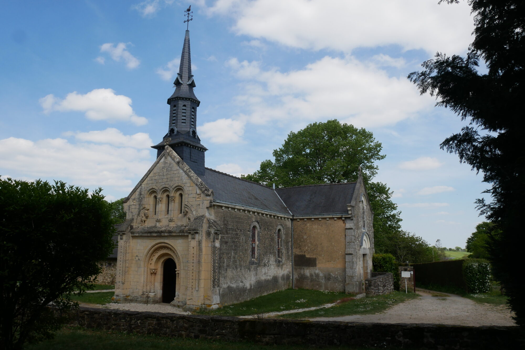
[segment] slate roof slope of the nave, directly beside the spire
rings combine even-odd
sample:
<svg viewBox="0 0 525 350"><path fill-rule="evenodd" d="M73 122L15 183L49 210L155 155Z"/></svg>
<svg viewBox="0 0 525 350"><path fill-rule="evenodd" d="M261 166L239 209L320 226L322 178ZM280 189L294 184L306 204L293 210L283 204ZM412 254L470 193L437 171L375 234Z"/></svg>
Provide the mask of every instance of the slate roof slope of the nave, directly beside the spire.
<svg viewBox="0 0 525 350"><path fill-rule="evenodd" d="M206 168L204 176L199 177L213 189L217 202L290 215L282 200L269 187L210 168Z"/></svg>

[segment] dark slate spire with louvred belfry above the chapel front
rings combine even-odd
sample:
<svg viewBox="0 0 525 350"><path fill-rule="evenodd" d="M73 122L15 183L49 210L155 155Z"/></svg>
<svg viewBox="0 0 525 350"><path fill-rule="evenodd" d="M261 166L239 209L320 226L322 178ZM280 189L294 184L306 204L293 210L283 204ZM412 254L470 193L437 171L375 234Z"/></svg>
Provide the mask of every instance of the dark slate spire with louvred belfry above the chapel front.
<svg viewBox="0 0 525 350"><path fill-rule="evenodd" d="M201 144L196 129L197 107L201 101L193 92L195 81L192 75L189 30L186 30L184 36L181 64L173 84L175 92L167 99L167 104L170 105L167 133L162 142L152 147L157 150L158 157L164 147L171 147L195 174L204 175L204 152L207 149Z"/></svg>

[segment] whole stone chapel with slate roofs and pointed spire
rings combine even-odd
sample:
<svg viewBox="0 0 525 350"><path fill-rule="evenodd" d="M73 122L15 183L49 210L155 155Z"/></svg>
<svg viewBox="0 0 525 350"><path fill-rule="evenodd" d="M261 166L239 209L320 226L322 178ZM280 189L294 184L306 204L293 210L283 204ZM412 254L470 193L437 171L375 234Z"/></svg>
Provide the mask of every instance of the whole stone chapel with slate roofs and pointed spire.
<svg viewBox="0 0 525 350"><path fill-rule="evenodd" d="M354 183L272 189L205 167L186 30L157 159L124 199L115 299L218 307L291 287L362 293L373 213Z"/></svg>

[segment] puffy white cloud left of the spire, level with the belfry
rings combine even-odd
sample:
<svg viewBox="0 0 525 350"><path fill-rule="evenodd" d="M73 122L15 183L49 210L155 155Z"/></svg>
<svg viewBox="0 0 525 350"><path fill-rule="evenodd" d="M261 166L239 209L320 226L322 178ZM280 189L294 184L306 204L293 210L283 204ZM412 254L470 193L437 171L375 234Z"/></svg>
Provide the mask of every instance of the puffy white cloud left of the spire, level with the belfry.
<svg viewBox="0 0 525 350"><path fill-rule="evenodd" d="M39 102L46 114L53 111L80 111L86 112L90 120L125 121L135 125L148 123L148 119L133 112L129 97L116 95L112 89L95 89L83 95L75 91L68 93L63 100L49 94Z"/></svg>

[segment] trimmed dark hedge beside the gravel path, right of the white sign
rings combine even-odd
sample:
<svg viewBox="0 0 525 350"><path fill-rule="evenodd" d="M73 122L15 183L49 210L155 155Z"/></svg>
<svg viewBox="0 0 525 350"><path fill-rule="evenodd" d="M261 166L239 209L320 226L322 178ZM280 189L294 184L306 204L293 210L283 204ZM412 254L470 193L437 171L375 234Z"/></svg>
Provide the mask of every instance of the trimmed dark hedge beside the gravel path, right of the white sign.
<svg viewBox="0 0 525 350"><path fill-rule="evenodd" d="M412 264L418 284L457 287L467 293L490 290L490 264L485 259L460 259Z"/></svg>

